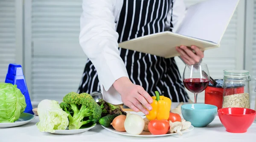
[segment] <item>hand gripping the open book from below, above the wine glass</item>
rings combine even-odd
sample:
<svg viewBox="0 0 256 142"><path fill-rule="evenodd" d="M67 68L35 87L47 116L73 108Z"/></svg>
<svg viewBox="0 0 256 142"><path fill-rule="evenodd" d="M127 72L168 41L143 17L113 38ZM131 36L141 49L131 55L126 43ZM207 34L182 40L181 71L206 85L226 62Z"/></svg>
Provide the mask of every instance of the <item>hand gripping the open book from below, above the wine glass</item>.
<svg viewBox="0 0 256 142"><path fill-rule="evenodd" d="M198 47L192 45L191 49L194 50L195 53L184 45L176 47L177 52L180 53L180 58L182 58L186 64L195 64L204 58L204 52L201 51Z"/></svg>

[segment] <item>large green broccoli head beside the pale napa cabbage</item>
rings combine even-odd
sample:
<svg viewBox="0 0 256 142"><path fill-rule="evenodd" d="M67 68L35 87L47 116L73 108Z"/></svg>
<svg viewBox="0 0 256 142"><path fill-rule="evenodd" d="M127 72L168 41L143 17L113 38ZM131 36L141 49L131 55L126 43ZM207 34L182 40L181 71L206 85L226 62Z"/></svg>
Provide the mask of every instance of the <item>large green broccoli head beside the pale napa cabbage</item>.
<svg viewBox="0 0 256 142"><path fill-rule="evenodd" d="M69 119L69 129L79 129L81 126L90 127L99 121L101 107L87 93L70 92L64 96L61 108L66 111Z"/></svg>

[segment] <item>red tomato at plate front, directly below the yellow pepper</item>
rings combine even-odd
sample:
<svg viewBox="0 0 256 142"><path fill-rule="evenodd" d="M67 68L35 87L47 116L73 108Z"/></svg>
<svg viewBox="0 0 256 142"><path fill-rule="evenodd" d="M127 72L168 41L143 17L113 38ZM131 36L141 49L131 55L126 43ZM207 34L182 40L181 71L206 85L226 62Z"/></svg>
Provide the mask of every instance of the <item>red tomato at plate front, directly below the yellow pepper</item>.
<svg viewBox="0 0 256 142"><path fill-rule="evenodd" d="M153 135L167 134L170 125L167 120L151 120L148 123L148 130Z"/></svg>

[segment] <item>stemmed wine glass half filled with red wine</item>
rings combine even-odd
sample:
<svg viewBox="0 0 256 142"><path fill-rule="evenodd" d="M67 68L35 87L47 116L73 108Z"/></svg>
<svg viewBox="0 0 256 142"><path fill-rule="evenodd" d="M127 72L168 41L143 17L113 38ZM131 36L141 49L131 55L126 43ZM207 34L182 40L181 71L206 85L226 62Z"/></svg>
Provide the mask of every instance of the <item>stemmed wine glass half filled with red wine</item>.
<svg viewBox="0 0 256 142"><path fill-rule="evenodd" d="M194 93L195 103L197 102L198 93L201 93L206 89L209 84L209 80L210 76L207 64L186 64L183 72L183 84L186 89Z"/></svg>

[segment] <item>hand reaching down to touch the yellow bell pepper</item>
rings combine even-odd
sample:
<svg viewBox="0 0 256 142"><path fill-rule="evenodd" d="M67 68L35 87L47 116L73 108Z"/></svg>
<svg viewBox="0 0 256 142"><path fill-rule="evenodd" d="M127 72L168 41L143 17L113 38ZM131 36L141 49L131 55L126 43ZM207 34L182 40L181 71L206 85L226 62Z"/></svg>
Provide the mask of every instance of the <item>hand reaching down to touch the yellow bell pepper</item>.
<svg viewBox="0 0 256 142"><path fill-rule="evenodd" d="M152 109L150 103L153 99L142 86L133 84L127 77L122 77L114 82L113 87L121 95L125 106L135 112L142 111L145 115L149 114L148 110Z"/></svg>

